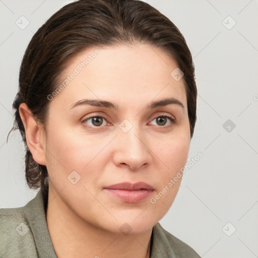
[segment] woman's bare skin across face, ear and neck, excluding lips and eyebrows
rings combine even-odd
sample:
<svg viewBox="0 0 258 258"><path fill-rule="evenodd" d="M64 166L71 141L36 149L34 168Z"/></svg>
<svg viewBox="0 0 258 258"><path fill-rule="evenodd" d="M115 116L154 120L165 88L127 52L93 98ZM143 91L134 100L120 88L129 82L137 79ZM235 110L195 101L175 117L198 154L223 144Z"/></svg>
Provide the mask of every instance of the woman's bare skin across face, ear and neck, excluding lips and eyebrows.
<svg viewBox="0 0 258 258"><path fill-rule="evenodd" d="M149 257L152 228L171 207L181 178L155 204L150 198L187 161L190 128L184 82L171 77L177 64L157 47L98 49L87 67L50 101L46 132L26 104L20 105L27 144L49 173L46 219L58 257ZM94 50L71 60L59 83ZM146 107L168 97L184 108ZM90 105L71 109L84 98L107 100L120 110ZM90 115L105 118L94 123L86 120ZM156 119L161 115L170 115L176 123ZM124 119L132 125L126 133L119 127ZM81 176L75 184L68 179L72 171ZM154 191L144 201L127 203L103 189L125 181L147 182ZM130 225L130 234L119 230L124 223Z"/></svg>

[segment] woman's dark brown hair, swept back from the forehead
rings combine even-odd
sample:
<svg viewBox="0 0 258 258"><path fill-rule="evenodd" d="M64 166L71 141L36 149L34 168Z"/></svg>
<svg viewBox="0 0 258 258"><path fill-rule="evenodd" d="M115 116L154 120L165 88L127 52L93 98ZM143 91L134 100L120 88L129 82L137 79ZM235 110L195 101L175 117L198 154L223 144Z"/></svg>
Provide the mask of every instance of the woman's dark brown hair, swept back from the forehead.
<svg viewBox="0 0 258 258"><path fill-rule="evenodd" d="M45 125L47 96L69 61L90 47L144 43L160 47L184 73L190 137L196 123L197 87L190 50L177 27L151 5L137 0L80 0L62 7L32 37L20 67L19 91L13 103L15 120L25 144L25 175L30 188L47 187L47 168L36 163L26 143L19 113L26 103L35 120ZM172 71L171 71L172 72ZM45 126L44 126L45 128ZM8 135L9 136L9 135Z"/></svg>

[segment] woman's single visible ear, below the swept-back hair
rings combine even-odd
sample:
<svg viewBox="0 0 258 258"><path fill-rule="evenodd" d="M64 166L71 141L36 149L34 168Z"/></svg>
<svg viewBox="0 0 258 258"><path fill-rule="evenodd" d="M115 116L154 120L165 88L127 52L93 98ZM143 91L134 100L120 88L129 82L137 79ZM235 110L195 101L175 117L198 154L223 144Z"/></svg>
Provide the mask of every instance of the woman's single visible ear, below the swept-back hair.
<svg viewBox="0 0 258 258"><path fill-rule="evenodd" d="M20 104L19 112L25 128L27 146L33 159L40 165L46 165L46 136L44 128L37 124L34 116L25 103Z"/></svg>

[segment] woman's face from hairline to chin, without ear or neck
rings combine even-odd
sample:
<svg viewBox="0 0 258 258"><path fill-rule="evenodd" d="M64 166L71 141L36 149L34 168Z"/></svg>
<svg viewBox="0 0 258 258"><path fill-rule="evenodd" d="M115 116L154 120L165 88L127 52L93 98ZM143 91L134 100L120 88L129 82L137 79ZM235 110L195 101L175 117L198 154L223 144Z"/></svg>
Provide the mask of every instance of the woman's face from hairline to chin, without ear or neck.
<svg viewBox="0 0 258 258"><path fill-rule="evenodd" d="M186 92L175 69L163 50L137 44L88 49L63 72L63 86L48 96L45 164L50 189L74 215L138 234L167 213L190 144ZM152 105L168 98L174 103ZM153 190L106 189L123 182Z"/></svg>

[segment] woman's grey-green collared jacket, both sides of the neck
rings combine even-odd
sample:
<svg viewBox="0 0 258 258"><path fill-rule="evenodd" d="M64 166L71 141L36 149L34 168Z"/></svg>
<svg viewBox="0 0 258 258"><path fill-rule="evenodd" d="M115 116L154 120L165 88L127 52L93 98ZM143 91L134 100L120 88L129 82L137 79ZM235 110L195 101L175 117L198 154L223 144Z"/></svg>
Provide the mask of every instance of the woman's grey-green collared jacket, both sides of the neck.
<svg viewBox="0 0 258 258"><path fill-rule="evenodd" d="M24 207L0 209L1 258L57 258L46 222L47 196L40 189ZM153 227L151 258L201 258L189 245Z"/></svg>

